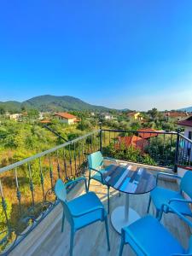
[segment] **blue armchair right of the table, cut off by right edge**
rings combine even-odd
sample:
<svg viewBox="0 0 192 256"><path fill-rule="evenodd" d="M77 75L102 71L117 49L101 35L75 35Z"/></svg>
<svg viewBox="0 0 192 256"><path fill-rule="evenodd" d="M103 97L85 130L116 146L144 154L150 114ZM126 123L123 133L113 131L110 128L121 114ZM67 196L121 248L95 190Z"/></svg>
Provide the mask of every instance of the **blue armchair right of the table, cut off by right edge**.
<svg viewBox="0 0 192 256"><path fill-rule="evenodd" d="M186 216L192 217L192 212L189 208L189 203L192 203L191 200L184 199L182 193L185 192L192 198L192 172L185 172L183 177L179 177L174 174L159 172L157 174L157 183L160 176L175 177L181 179L179 191L173 191L171 189L164 189L161 187L156 187L153 191L150 192L150 197L148 201L148 211L151 201L154 203L156 208L156 217L159 216L161 206L163 204L170 204L178 212Z"/></svg>

